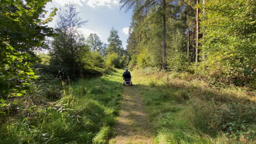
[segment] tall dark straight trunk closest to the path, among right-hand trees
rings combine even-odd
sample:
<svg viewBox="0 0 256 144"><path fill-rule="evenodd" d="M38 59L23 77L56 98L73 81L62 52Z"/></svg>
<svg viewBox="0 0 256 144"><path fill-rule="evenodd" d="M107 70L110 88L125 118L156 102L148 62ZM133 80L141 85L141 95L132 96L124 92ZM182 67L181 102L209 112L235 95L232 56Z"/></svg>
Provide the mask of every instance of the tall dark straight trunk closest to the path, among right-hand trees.
<svg viewBox="0 0 256 144"><path fill-rule="evenodd" d="M165 0L162 0L162 69L166 70L166 15Z"/></svg>

